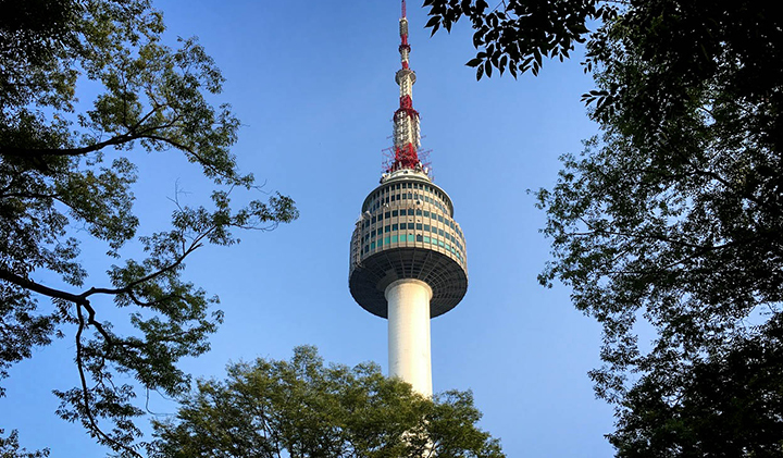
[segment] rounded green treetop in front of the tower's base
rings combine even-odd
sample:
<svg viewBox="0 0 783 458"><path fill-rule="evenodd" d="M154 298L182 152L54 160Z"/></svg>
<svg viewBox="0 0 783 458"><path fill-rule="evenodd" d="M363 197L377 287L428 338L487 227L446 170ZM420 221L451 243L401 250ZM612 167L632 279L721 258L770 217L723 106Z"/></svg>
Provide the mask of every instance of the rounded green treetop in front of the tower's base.
<svg viewBox="0 0 783 458"><path fill-rule="evenodd" d="M469 392L427 399L376 364L324 366L313 347L227 371L199 381L175 420L153 422L151 457L505 456L475 426Z"/></svg>

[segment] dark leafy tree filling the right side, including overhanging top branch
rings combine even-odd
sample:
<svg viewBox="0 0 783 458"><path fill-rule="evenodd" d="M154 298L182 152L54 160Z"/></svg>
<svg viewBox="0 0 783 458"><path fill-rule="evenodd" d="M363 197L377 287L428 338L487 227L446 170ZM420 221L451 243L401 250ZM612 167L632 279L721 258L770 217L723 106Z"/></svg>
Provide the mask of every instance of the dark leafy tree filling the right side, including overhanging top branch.
<svg viewBox="0 0 783 458"><path fill-rule="evenodd" d="M591 376L617 406L618 455L783 456L780 15L723 0L428 3L437 21L474 20L485 72L587 40L602 134L538 193L554 255L540 281L571 286L604 326Z"/></svg>

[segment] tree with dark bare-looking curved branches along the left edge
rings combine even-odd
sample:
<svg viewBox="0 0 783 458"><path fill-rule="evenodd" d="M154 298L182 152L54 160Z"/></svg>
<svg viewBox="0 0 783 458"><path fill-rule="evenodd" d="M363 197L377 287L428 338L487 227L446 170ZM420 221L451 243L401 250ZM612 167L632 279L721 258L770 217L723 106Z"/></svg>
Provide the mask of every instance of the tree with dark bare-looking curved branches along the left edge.
<svg viewBox="0 0 783 458"><path fill-rule="evenodd" d="M210 310L216 297L183 278L186 259L204 244L238 242L234 230L269 230L297 211L281 195L233 208L233 193L258 187L231 153L239 126L231 107L207 100L223 77L196 39L178 49L161 42L162 15L149 0L0 5L0 377L67 336L80 383L55 392L58 414L136 456L137 388L186 391L177 361L206 351L221 321ZM98 95L77 112L85 87ZM130 190L139 148L176 150L200 166L216 187L212 208L178 206L170 230L138 235ZM85 237L115 259L111 284L88 286ZM139 247L145 259L124 255ZM127 310L126 323L107 320L112 302ZM117 383L120 373L137 386Z"/></svg>

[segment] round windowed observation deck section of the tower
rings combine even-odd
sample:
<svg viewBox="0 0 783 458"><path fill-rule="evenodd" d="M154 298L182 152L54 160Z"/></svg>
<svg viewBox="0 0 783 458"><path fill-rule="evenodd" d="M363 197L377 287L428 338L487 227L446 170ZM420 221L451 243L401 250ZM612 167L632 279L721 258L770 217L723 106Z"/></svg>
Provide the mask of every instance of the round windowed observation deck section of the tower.
<svg viewBox="0 0 783 458"><path fill-rule="evenodd" d="M364 199L350 243L349 287L369 312L388 318L384 292L397 280L426 283L430 317L455 308L468 290L462 228L448 195L420 169L384 174Z"/></svg>

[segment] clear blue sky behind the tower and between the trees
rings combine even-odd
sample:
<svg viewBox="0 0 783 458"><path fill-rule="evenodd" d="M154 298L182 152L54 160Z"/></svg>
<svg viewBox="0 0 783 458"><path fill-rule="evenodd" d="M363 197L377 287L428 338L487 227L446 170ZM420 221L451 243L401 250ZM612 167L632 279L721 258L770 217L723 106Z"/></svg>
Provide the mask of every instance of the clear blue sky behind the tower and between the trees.
<svg viewBox="0 0 783 458"><path fill-rule="evenodd" d="M612 429L611 408L595 399L586 375L599 366L599 327L571 306L568 288L537 284L549 248L538 232L544 215L526 193L550 187L558 157L581 151L581 140L596 133L580 102L592 81L576 53L545 62L538 77L476 83L464 66L474 52L468 24L430 38L420 4L408 5L413 106L435 181L455 202L469 267L465 298L432 322L434 388L472 389L482 428L509 457L609 456L602 435ZM352 300L348 248L391 141L399 1L156 5L167 39L199 36L227 78L214 100L232 103L243 121L234 150L241 170L290 195L301 212L290 225L243 234L238 246L204 248L188 261L185 276L221 297L225 323L212 351L185 368L223 376L229 360L289 358L302 344L318 346L327 361L386 368L386 321ZM185 203L207 201L209 182L179 154L132 157L141 233L165 227L177 183ZM104 250L85 246L88 287L107 283ZM112 308L102 306L104 313ZM20 429L25 446L49 446L53 457L102 456L79 425L53 413L51 389L76 384L73 351L69 334L12 368L0 428ZM174 411L154 396L150 406Z"/></svg>

